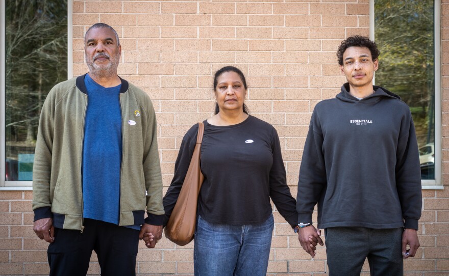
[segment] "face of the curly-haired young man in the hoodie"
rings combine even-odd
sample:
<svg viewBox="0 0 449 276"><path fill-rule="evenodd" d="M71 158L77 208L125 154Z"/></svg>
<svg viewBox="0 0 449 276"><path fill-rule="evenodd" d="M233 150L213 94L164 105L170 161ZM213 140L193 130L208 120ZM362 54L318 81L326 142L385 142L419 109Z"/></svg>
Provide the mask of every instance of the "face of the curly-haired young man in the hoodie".
<svg viewBox="0 0 449 276"><path fill-rule="evenodd" d="M344 51L340 69L352 87L364 87L372 85L372 78L378 66L379 61L372 60L368 48L353 46Z"/></svg>

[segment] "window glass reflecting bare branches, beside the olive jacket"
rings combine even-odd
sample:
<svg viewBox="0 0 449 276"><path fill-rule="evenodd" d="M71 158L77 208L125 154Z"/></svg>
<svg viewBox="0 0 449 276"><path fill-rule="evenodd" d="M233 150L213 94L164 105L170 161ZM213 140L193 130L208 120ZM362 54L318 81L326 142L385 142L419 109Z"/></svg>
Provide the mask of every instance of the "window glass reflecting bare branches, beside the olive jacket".
<svg viewBox="0 0 449 276"><path fill-rule="evenodd" d="M6 181L32 180L39 115L67 79L67 1L6 0Z"/></svg>

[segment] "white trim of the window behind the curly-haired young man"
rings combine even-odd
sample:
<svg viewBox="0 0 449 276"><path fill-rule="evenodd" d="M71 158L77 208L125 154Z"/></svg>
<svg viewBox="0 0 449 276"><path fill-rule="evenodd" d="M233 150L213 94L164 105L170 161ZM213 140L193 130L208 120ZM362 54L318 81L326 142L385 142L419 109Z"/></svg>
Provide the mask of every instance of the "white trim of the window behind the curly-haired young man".
<svg viewBox="0 0 449 276"><path fill-rule="evenodd" d="M369 0L369 38L375 37L374 2ZM434 1L435 40L435 180L421 180L422 189L442 190L441 182L441 0ZM372 80L373 83L375 79Z"/></svg>

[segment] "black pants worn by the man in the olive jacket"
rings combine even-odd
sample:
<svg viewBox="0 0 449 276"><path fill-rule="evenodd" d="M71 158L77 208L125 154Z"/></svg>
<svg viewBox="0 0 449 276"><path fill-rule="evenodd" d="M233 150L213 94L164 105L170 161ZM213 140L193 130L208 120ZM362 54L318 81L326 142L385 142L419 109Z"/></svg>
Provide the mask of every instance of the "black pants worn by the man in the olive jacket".
<svg viewBox="0 0 449 276"><path fill-rule="evenodd" d="M103 276L135 275L139 231L101 220L84 219L84 231L55 229L48 245L51 276L85 276L92 250Z"/></svg>

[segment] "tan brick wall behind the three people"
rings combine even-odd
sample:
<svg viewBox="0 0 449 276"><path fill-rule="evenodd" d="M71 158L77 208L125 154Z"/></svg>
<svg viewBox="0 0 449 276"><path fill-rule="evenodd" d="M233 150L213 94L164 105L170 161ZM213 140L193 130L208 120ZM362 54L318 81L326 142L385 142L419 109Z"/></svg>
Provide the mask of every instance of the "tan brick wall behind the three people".
<svg viewBox="0 0 449 276"><path fill-rule="evenodd" d="M368 35L368 0L285 2L73 1L73 69L83 63L87 27L105 22L122 44L119 74L144 89L158 119L158 143L165 189L182 136L212 115L212 74L235 65L247 76L252 115L279 132L288 184L296 195L298 169L314 105L334 97L344 82L336 48L354 34ZM441 5L443 182L449 185L449 0ZM47 274L46 242L32 230L31 191L0 191L0 274ZM406 275L449 273L449 192L423 190L421 247L405 261ZM316 221L316 219L314 219ZM162 239L157 249L140 244L140 274L193 272L192 244ZM363 269L368 274L368 266ZM327 272L326 252L314 260L275 212L269 274ZM98 274L95 254L89 269Z"/></svg>

